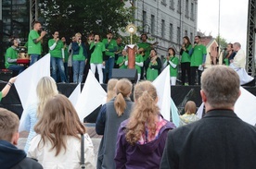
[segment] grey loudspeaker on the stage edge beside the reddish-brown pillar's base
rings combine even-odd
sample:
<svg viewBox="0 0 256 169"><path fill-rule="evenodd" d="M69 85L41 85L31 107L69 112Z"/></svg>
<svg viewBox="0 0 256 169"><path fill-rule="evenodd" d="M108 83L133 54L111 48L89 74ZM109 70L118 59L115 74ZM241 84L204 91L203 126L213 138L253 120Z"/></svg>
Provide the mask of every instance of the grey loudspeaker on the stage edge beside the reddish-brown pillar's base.
<svg viewBox="0 0 256 169"><path fill-rule="evenodd" d="M135 68L113 68L112 78L128 78L132 83L135 83L137 81L137 70Z"/></svg>

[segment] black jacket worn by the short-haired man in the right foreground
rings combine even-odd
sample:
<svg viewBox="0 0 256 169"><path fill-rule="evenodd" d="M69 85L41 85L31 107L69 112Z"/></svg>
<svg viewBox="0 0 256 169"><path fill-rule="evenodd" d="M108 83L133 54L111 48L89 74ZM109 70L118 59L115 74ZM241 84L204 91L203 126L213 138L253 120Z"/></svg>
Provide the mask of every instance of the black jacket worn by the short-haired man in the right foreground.
<svg viewBox="0 0 256 169"><path fill-rule="evenodd" d="M211 110L168 134L160 168L245 169L256 167L256 128L231 110Z"/></svg>

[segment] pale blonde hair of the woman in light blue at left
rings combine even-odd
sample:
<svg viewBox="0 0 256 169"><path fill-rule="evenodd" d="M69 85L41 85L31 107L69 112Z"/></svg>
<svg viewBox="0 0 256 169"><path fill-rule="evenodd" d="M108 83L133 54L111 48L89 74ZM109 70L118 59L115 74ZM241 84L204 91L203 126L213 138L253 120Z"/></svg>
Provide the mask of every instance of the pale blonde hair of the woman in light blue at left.
<svg viewBox="0 0 256 169"><path fill-rule="evenodd" d="M41 117L47 100L58 94L56 82L51 77L43 77L39 80L36 87L36 94L39 100L37 107L37 117Z"/></svg>

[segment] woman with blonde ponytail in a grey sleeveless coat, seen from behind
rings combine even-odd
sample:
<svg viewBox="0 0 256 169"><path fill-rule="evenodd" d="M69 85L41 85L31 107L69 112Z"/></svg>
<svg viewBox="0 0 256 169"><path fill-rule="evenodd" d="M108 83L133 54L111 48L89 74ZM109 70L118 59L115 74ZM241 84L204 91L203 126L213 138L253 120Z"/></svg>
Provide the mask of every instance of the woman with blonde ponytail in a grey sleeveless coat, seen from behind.
<svg viewBox="0 0 256 169"><path fill-rule="evenodd" d="M126 120L133 107L130 100L133 85L126 78L120 79L116 86L116 97L106 103L106 111L100 111L96 119L96 133L104 135L98 148L96 168L116 168L114 162L118 127Z"/></svg>

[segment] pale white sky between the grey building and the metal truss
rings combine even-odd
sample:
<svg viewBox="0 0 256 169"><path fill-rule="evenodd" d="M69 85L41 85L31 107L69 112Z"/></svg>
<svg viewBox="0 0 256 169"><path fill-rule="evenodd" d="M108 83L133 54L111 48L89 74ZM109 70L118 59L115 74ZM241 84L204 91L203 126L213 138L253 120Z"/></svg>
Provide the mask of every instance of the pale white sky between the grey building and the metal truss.
<svg viewBox="0 0 256 169"><path fill-rule="evenodd" d="M246 50L249 0L220 0L220 35ZM198 0L198 30L218 35L219 0Z"/></svg>

